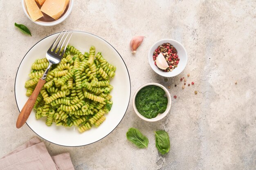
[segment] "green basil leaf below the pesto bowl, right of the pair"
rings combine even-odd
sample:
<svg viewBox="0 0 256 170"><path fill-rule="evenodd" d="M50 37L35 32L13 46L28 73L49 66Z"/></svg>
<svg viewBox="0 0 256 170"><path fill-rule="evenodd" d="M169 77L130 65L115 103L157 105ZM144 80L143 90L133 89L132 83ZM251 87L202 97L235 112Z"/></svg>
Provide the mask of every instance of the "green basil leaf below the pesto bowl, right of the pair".
<svg viewBox="0 0 256 170"><path fill-rule="evenodd" d="M155 132L155 146L162 155L169 152L170 139L166 131L159 130Z"/></svg>

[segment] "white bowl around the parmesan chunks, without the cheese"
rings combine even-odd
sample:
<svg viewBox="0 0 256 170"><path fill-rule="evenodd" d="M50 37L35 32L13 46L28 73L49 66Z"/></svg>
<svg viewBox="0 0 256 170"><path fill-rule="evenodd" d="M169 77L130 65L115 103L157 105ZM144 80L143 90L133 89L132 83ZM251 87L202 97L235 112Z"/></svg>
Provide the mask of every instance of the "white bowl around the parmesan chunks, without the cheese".
<svg viewBox="0 0 256 170"><path fill-rule="evenodd" d="M29 13L27 11L25 0L21 0L21 4L22 4L23 11L27 15L27 18L29 18L29 20L33 21L30 18ZM73 4L74 4L74 0L70 0L69 4L67 5L67 9L65 9L65 11L64 11L64 14L60 18L58 18L57 20L50 21L50 22L36 20L36 21L33 21L33 22L38 24L38 25L42 25L42 26L54 26L54 25L57 25L57 24L63 22L65 19L67 19L68 15L70 15L70 13L72 11ZM44 14L44 15L46 15L46 14Z"/></svg>

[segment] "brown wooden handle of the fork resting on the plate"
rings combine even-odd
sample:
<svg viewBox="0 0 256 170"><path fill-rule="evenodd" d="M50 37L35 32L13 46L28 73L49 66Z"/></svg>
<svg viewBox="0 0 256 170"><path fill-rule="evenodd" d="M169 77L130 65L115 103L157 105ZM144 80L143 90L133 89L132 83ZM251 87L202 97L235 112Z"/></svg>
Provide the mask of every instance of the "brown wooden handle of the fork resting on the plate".
<svg viewBox="0 0 256 170"><path fill-rule="evenodd" d="M23 108L20 112L20 115L18 116L18 119L16 121L16 128L21 128L27 121L27 118L29 117L29 115L34 107L34 104L36 103L36 98L37 98L38 94L40 93L40 90L44 84L45 84L45 80L40 78L36 85L35 90L31 94L29 99L27 100L26 104L23 106Z"/></svg>

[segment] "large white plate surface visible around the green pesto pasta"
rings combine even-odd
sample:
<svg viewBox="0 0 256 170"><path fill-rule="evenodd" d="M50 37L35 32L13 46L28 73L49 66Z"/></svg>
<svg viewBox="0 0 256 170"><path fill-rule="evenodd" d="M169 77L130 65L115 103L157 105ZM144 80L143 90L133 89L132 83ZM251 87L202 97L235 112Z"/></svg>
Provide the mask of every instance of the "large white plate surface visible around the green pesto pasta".
<svg viewBox="0 0 256 170"><path fill-rule="evenodd" d="M21 61L15 80L15 97L19 110L22 109L28 99L25 95L26 88L24 85L29 79L28 74L31 71L33 62L37 58L45 57L46 51L57 36L58 33L55 33L40 40L27 52ZM106 120L98 128L92 127L88 131L79 133L77 128L74 127L66 128L55 126L55 124L48 127L45 124L45 119L36 119L36 112L33 110L26 123L37 135L54 144L62 146L84 146L106 137L123 119L130 100L130 77L126 64L120 54L102 38L90 33L74 31L69 44L75 46L82 53L89 51L90 46L93 45L96 48L96 52L100 51L108 62L117 67L116 75L110 81L110 84L114 86L114 89L110 93L113 96L113 105L110 112L106 114Z"/></svg>

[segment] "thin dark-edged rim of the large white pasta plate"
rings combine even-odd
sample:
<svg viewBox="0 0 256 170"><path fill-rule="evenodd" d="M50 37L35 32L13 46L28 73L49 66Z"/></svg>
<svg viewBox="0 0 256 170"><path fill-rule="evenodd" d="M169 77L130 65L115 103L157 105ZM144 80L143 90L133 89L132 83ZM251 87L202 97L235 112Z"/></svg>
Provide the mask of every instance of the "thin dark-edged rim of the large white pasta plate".
<svg viewBox="0 0 256 170"><path fill-rule="evenodd" d="M99 37L99 36L97 36L97 35L94 35L94 34L92 34L92 33L85 32L85 31L70 31L70 32L79 32L79 33L90 34L90 35L92 35L92 36L95 36L95 37L97 37L97 38L103 40L104 42L106 42L107 44L109 44L109 45L118 53L119 57L121 57L122 61L124 62L123 57L119 54L119 52L115 49L115 47L112 46L109 42L107 42L107 41L104 40L103 38L101 38L101 37ZM53 34L51 34L51 35L46 36L45 38L47 38L47 37L49 37L49 36L52 36L52 35L54 35L54 34L58 34L58 33L60 33L60 32L53 33ZM39 40L38 42L36 42L36 44L38 44L40 41L44 40L45 38ZM36 44L34 44L34 45L27 51L27 53L29 53L29 51L30 51ZM23 57L22 60L20 61L20 64L22 63L22 61L23 61L24 58L26 57L27 53L24 55L24 57ZM18 107L17 97L16 97L16 79L17 79L17 75L18 75L19 68L20 68L20 64L19 64L18 70L17 70L17 72L16 72L15 82L14 82L14 96L15 96L15 102L16 102L17 108L18 108L18 110L19 110L19 113L20 113L20 109L19 109L19 107ZM130 103L130 97L131 97L131 80L130 80L130 74L129 74L129 71L128 71L128 68L127 68L125 62L124 62L124 65L125 65L125 67L126 67L126 70L127 70L127 73L128 73L128 77L129 77L129 82L130 82L130 96L129 96L129 101L128 101L128 105L127 105L126 111L125 111L125 113L124 113L124 116L125 116L125 115L126 115L126 112L127 112L127 110L128 110L128 107L129 107L129 103ZM119 123L117 124L117 126L118 126L118 125L121 123L121 121L124 119L124 116L123 116L122 119L119 121ZM26 121L26 124L27 124L27 121ZM28 124L27 124L27 126L28 126L36 135L38 135ZM113 131L117 128L117 126L116 126L113 130L111 130L111 132L113 132ZM111 132L109 132L108 135L109 135ZM107 137L108 135L102 137L101 139L104 139L104 138ZM40 135L38 135L38 136L41 137ZM44 139L44 140L46 140L46 141L48 141L48 142L50 142L50 143L52 143L52 144L55 144L54 142L51 142L51 141L49 141L49 140L47 140L47 139L45 139L45 138L43 138L43 137L41 137L41 138ZM99 139L99 140L97 140L97 141L100 141L101 139ZM92 143L90 143L90 144L93 144L93 143L95 143L95 142L97 142L97 141L94 141L94 142L92 142ZM79 145L79 146L66 146L66 145L61 145L61 144L56 144L56 145L58 145L58 146L65 146L65 147L81 147L81 146L87 146L87 145L90 145L90 144Z"/></svg>

